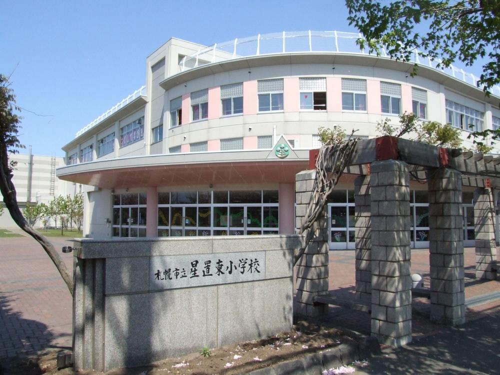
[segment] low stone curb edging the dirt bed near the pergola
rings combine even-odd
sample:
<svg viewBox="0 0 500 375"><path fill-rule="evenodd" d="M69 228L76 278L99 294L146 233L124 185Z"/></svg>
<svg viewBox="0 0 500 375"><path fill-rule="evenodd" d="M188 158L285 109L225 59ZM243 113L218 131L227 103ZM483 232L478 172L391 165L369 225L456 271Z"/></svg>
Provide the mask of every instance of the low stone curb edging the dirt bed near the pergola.
<svg viewBox="0 0 500 375"><path fill-rule="evenodd" d="M378 353L380 353L380 345L376 338L366 337L360 342L342 343L331 349L307 354L300 359L283 361L245 373L248 375L320 375L325 369L349 364Z"/></svg>

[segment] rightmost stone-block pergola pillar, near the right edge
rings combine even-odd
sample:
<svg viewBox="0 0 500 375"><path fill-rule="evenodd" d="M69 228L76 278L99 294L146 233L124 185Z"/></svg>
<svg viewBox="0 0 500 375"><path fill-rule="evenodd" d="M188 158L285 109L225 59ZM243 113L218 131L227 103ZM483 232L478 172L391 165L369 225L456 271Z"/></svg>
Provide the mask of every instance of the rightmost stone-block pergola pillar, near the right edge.
<svg viewBox="0 0 500 375"><path fill-rule="evenodd" d="M474 191L475 277L496 278L495 207L490 188Z"/></svg>

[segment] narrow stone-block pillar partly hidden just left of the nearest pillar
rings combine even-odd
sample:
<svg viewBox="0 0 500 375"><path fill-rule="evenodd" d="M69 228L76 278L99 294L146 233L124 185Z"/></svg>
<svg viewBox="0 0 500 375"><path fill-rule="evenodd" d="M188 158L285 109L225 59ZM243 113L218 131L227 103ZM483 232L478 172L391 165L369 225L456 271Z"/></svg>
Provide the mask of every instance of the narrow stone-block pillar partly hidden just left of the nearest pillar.
<svg viewBox="0 0 500 375"><path fill-rule="evenodd" d="M371 198L370 176L360 175L354 180L356 220L356 295L371 300Z"/></svg>

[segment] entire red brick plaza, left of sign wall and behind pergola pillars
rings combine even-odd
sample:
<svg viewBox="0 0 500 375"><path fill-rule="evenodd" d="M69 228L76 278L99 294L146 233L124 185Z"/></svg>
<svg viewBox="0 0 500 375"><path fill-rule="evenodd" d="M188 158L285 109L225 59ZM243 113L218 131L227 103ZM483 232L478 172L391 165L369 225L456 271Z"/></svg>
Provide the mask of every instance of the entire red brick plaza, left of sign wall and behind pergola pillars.
<svg viewBox="0 0 500 375"><path fill-rule="evenodd" d="M72 253L60 249L71 242L51 238L66 265L72 269ZM428 286L428 249L413 249L411 271L421 273ZM329 253L329 289L353 297L354 250L334 250ZM465 249L466 301L486 295L480 303L469 305L467 320L483 316L488 309L500 305L500 282L474 278L474 249ZM413 299L413 338L434 334L441 326L430 323L425 298ZM42 248L30 237L1 238L0 244L0 360L6 357L30 356L52 349L71 347L70 294ZM330 321L369 334L370 319L366 312L330 307Z"/></svg>

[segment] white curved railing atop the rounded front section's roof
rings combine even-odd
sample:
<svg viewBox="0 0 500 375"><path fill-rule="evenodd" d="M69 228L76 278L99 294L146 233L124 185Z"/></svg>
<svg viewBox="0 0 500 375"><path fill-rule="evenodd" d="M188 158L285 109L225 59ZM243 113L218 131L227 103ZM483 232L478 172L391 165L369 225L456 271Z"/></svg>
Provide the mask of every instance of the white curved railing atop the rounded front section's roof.
<svg viewBox="0 0 500 375"><path fill-rule="evenodd" d="M179 70L185 71L209 63L230 60L234 58L260 56L276 53L293 52L335 52L369 54L356 44L361 34L342 31L283 31L268 34L235 38L222 43L215 43L209 47L199 49L196 53L184 56L179 62ZM370 53L375 55L375 53ZM388 57L385 48L381 48L381 56ZM479 79L474 74L463 71L456 66L439 67L440 60L431 60L419 55L415 49L411 62L444 72L456 79L477 87ZM492 94L500 96L500 86L490 88Z"/></svg>

